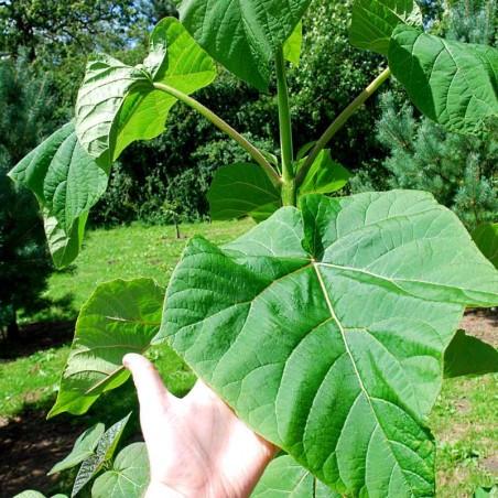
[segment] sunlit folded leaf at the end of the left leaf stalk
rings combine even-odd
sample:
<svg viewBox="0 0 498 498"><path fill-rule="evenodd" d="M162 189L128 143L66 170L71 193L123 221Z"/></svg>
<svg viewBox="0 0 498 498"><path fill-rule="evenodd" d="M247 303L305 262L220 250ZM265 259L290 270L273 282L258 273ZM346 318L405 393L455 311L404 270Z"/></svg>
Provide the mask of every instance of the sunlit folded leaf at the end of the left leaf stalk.
<svg viewBox="0 0 498 498"><path fill-rule="evenodd" d="M163 19L151 35L143 64L130 67L107 55L90 59L76 101L79 141L108 167L131 142L164 131L176 99L154 89L154 83L192 94L215 77L213 61L182 24Z"/></svg>

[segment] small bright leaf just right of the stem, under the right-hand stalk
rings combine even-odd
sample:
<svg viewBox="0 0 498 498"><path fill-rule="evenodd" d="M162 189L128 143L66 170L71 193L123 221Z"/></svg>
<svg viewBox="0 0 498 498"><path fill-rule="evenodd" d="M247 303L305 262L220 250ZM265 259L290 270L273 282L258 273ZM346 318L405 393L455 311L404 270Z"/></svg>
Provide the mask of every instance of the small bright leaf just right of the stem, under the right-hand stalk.
<svg viewBox="0 0 498 498"><path fill-rule="evenodd" d="M323 150L312 164L300 186L300 195L331 194L340 191L351 174L334 161L328 149Z"/></svg>

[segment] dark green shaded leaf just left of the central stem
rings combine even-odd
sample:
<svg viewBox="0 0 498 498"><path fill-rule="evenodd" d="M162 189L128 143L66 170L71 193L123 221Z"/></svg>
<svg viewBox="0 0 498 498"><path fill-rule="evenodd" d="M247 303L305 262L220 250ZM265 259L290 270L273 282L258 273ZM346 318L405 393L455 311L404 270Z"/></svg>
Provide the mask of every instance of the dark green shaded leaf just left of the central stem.
<svg viewBox="0 0 498 498"><path fill-rule="evenodd" d="M207 194L213 219L251 216L261 221L281 207L280 193L256 164L223 166Z"/></svg>

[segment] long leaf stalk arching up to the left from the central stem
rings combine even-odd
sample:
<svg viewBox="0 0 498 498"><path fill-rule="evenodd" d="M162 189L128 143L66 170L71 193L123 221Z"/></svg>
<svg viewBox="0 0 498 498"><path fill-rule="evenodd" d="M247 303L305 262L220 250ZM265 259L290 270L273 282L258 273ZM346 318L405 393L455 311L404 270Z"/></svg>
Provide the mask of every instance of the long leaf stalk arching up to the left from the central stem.
<svg viewBox="0 0 498 498"><path fill-rule="evenodd" d="M273 166L268 162L261 151L253 145L249 140L245 139L237 130L235 130L230 124L228 124L224 119L208 109L206 106L202 105L191 96L184 94L183 91L177 90L169 85L163 83L153 83L155 89L164 91L172 97L175 97L183 104L186 104L188 107L192 107L197 112L207 118L215 127L219 128L221 131L227 133L230 138L232 138L242 149L245 149L249 155L264 170L271 182L275 186L280 186L282 180L279 174L275 172Z"/></svg>

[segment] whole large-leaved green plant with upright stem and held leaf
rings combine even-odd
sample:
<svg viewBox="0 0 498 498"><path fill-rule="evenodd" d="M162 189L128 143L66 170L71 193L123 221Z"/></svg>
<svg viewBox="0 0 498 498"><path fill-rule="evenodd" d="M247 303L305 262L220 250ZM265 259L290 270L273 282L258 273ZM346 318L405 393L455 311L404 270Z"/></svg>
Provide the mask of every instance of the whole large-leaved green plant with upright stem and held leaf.
<svg viewBox="0 0 498 498"><path fill-rule="evenodd" d="M151 281L99 288L82 310L51 414L84 413L127 379L124 353L165 344L285 454L255 496L434 496L427 416L444 376L498 370L496 349L456 334L467 306L498 305L498 273L429 194L331 197L348 173L326 147L391 74L421 112L480 133L498 115L498 51L425 33L412 0L356 0L351 43L387 56L388 67L294 155L285 71L299 62L308 4L184 0L181 20L153 31L142 64L91 58L75 121L11 172L37 196L65 266L112 162L163 132L176 102L251 158L219 169L209 203L215 219L259 225L224 247L192 239L162 312ZM274 75L280 158L191 96L215 79L215 61L261 91Z"/></svg>

